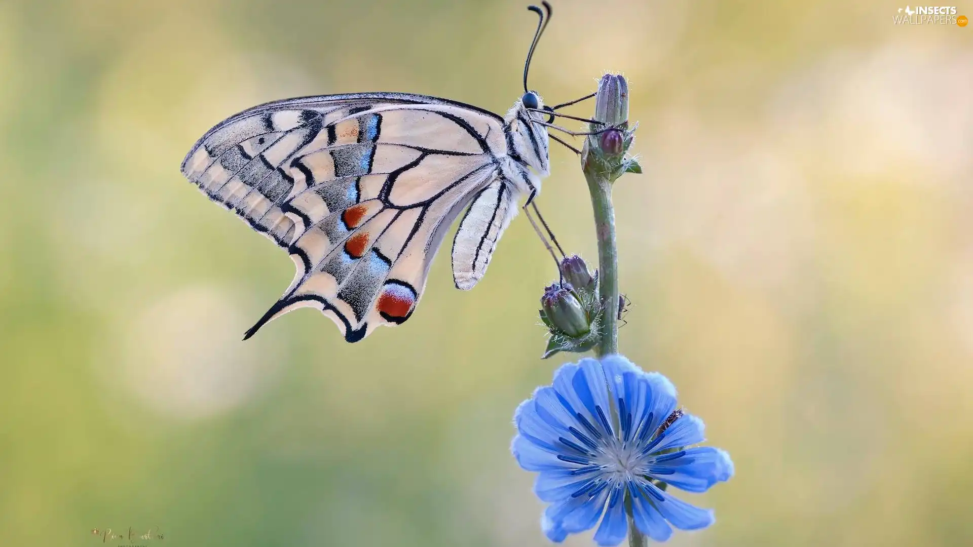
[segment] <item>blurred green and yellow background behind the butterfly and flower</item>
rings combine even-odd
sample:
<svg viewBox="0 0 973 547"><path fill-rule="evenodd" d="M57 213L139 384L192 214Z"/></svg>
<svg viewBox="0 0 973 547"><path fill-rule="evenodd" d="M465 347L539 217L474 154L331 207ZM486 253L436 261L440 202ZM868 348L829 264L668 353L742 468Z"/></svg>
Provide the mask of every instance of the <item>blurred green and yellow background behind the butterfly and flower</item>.
<svg viewBox="0 0 973 547"><path fill-rule="evenodd" d="M555 3L531 87L621 71L640 122L622 350L737 464L684 496L717 524L673 545L973 544L973 27L899 7ZM0 544L546 545L511 417L567 357L538 359L555 273L523 217L469 293L443 253L402 327L348 345L301 310L242 343L293 266L179 173L275 98L504 112L534 23L521 1L0 3ZM552 150L539 203L594 259Z"/></svg>

